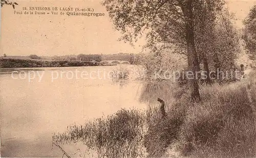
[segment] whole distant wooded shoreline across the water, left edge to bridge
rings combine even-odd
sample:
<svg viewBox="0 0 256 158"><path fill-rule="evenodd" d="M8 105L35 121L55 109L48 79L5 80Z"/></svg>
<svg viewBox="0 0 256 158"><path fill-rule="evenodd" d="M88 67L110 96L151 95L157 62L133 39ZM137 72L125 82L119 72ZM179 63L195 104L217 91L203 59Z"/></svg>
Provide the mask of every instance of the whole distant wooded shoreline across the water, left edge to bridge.
<svg viewBox="0 0 256 158"><path fill-rule="evenodd" d="M95 62L103 60L124 60L136 64L137 54L79 54L63 56L7 56L0 57L1 67L59 67L59 66L93 66ZM29 60L36 59L36 60ZM23 61L25 60L25 61ZM48 61L47 61L48 60ZM68 62L70 61L70 62ZM71 62L72 61L72 62ZM87 61L87 62L78 62ZM92 65L91 65L92 64ZM97 63L99 64L99 63Z"/></svg>

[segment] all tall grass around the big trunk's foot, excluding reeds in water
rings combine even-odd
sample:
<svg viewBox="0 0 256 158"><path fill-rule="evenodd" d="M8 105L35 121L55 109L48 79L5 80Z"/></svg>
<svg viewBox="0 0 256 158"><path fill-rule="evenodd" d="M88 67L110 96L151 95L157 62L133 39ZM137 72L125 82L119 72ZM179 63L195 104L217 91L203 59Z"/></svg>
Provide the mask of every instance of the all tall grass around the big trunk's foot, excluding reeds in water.
<svg viewBox="0 0 256 158"><path fill-rule="evenodd" d="M183 156L255 156L256 84L250 83L203 86L202 102L198 104L190 103L188 92L180 88L174 93L176 99L167 117L154 115L148 122L144 139L148 156L168 155L167 148L174 144Z"/></svg>

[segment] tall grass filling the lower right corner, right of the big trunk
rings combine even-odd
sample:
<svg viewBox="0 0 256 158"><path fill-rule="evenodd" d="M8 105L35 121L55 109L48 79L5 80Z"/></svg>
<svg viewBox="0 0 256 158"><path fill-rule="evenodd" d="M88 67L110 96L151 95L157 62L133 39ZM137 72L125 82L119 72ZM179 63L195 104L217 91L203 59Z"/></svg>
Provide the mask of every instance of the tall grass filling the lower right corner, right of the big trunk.
<svg viewBox="0 0 256 158"><path fill-rule="evenodd" d="M203 87L203 102L190 106L179 132L184 155L193 157L255 156L256 121L247 83Z"/></svg>

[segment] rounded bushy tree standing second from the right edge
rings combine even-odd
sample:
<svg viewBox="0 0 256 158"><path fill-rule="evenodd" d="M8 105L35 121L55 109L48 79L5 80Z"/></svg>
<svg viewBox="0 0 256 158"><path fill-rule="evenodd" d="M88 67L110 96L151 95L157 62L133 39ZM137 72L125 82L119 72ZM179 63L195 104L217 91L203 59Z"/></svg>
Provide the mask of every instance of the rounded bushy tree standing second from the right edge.
<svg viewBox="0 0 256 158"><path fill-rule="evenodd" d="M234 28L231 19L234 15L230 14L228 10L219 13L216 21L214 38L214 52L212 53L212 60L216 69L229 70L234 65L234 60L239 53L239 38L240 35L236 28Z"/></svg>

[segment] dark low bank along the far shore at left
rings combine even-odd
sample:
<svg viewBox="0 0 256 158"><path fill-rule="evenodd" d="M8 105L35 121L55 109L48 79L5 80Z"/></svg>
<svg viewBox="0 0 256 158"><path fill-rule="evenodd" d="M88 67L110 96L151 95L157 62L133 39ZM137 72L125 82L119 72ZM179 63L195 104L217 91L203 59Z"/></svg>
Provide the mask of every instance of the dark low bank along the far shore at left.
<svg viewBox="0 0 256 158"><path fill-rule="evenodd" d="M29 60L29 59L0 59L0 68L13 67L68 67L68 66L97 66L91 61L62 61L62 60Z"/></svg>

